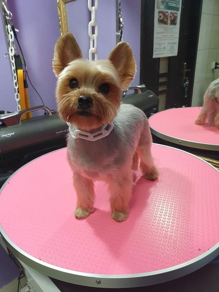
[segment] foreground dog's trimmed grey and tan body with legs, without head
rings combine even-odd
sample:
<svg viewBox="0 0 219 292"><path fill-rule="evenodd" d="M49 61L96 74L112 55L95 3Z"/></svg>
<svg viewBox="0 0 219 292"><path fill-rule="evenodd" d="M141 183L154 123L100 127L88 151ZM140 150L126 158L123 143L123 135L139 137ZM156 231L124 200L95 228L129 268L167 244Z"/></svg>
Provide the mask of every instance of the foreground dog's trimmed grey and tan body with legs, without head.
<svg viewBox="0 0 219 292"><path fill-rule="evenodd" d="M144 161L141 167L145 178L157 179L146 115L137 107L121 104L113 124L110 135L97 141L72 139L71 134L68 135L68 161L73 171L75 188L80 184L80 188L84 189L82 201L86 185L89 185L86 203L78 200L75 211L77 218L87 217L93 211L93 181L102 180L110 186L112 217L117 221L126 219L133 185L132 169L137 166L134 161L136 156Z"/></svg>

